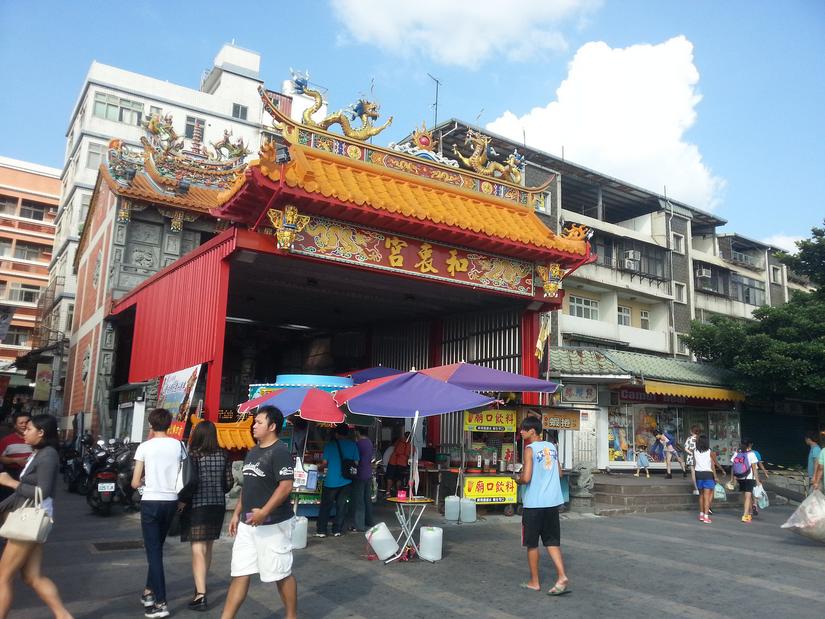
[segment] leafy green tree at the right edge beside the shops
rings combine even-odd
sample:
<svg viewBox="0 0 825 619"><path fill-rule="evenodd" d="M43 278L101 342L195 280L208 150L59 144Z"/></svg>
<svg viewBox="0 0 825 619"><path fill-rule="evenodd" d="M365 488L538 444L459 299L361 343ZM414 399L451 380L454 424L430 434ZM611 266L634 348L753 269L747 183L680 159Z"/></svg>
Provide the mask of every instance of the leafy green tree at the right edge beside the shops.
<svg viewBox="0 0 825 619"><path fill-rule="evenodd" d="M686 343L700 359L731 369L737 386L760 398L825 400L825 229L783 255L819 289L797 292L785 305L755 310L755 320L714 317L694 322Z"/></svg>

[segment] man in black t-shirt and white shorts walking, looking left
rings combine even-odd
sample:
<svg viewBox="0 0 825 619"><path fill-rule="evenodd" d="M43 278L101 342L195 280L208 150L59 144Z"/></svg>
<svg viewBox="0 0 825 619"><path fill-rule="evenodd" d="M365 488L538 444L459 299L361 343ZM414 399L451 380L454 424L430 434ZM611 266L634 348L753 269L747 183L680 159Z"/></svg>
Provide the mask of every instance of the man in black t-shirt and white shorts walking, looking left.
<svg viewBox="0 0 825 619"><path fill-rule="evenodd" d="M298 585L292 575L292 531L295 514L289 502L293 461L278 434L284 416L263 406L255 416L252 434L258 441L243 465L243 488L229 521L232 545L232 583L221 619L234 619L246 599L252 574L275 582L287 619L296 619Z"/></svg>

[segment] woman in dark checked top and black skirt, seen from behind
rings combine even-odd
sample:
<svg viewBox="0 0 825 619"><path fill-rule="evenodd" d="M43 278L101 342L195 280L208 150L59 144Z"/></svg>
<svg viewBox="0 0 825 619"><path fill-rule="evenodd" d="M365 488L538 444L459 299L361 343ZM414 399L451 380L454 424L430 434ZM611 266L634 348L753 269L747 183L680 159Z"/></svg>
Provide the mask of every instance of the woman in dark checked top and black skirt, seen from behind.
<svg viewBox="0 0 825 619"><path fill-rule="evenodd" d="M205 611L206 575L212 564L212 544L221 536L226 513L225 494L232 487L232 464L218 446L218 432L211 421L201 421L189 438L189 457L198 467L198 484L181 513L182 542L192 547L195 594L192 610Z"/></svg>

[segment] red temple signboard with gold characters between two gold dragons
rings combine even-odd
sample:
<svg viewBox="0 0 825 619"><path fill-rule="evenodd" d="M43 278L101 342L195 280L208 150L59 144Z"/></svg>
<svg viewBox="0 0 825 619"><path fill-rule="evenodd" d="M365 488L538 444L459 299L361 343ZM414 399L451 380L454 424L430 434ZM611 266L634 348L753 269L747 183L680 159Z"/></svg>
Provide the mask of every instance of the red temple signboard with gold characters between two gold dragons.
<svg viewBox="0 0 825 619"><path fill-rule="evenodd" d="M533 296L533 265L409 236L310 217L295 235L292 252L358 266L394 271Z"/></svg>

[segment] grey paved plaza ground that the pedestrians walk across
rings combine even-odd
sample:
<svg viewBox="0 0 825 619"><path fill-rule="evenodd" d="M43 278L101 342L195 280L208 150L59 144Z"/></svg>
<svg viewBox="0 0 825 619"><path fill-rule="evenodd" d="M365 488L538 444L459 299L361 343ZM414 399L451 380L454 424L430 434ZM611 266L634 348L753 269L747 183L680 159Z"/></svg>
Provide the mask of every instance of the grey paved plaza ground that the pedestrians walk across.
<svg viewBox="0 0 825 619"><path fill-rule="evenodd" d="M60 496L58 524L46 547L46 572L80 618L142 617L142 550L100 552L94 542L140 539L135 516L102 519L83 499ZM825 546L779 529L790 508L770 508L751 525L724 510L712 525L693 513L596 518L562 523L562 546L573 593L551 598L525 592L519 519L492 515L475 524L444 524L444 559L385 566L364 558L363 536L311 539L296 551L299 610L305 618L404 617L795 617L820 615ZM390 524L392 513L383 514ZM312 525L312 523L310 523ZM188 547L167 542L167 582L175 616L220 616L228 581L230 540L216 545L209 599L213 609L186 609L192 591ZM542 557L543 587L552 585ZM51 615L21 583L11 617ZM274 586L254 583L240 617L282 617Z"/></svg>

